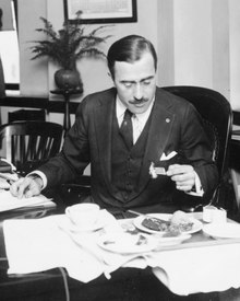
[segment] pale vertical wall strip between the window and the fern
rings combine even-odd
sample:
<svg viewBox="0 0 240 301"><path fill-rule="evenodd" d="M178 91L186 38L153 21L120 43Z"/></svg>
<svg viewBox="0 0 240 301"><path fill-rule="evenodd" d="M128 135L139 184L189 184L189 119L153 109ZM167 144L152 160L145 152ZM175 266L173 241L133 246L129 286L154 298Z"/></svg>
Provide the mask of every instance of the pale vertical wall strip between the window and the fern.
<svg viewBox="0 0 240 301"><path fill-rule="evenodd" d="M59 1L61 2L61 1ZM48 95L48 60L31 60L29 47L38 39L35 28L41 27L40 16L46 16L46 0L17 0L20 39L20 89L22 95Z"/></svg>

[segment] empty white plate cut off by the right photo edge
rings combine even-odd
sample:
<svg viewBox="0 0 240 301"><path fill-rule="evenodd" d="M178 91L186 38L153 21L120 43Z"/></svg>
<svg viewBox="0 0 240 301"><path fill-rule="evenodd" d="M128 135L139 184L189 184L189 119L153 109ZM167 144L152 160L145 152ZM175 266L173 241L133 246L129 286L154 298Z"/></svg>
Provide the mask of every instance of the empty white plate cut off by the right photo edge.
<svg viewBox="0 0 240 301"><path fill-rule="evenodd" d="M209 223L203 227L203 232L215 239L240 239L240 224L231 222Z"/></svg>

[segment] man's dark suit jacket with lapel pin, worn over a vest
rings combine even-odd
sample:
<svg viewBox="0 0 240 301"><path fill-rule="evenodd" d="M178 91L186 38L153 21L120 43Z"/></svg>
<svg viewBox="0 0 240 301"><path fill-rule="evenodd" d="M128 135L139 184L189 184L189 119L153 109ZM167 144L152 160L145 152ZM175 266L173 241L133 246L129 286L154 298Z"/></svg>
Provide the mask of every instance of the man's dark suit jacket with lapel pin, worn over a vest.
<svg viewBox="0 0 240 301"><path fill-rule="evenodd" d="M152 206L158 211L172 211L178 209L185 194L177 192L175 183L167 176L153 180L149 165L151 162L159 162L164 152L177 151L182 163L193 165L200 176L204 198L209 198L217 185L218 174L202 119L191 103L159 88L156 89L139 187L128 202L116 197L111 185L116 94L112 88L91 94L80 104L61 153L39 169L46 174L48 186L74 181L91 162L92 198L100 206L121 209ZM168 207L171 209L168 210Z"/></svg>

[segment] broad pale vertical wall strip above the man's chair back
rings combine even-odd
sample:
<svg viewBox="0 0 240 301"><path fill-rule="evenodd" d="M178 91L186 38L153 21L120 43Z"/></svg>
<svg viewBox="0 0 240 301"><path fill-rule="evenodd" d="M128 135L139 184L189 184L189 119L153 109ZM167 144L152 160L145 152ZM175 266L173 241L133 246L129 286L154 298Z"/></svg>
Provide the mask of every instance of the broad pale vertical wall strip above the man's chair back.
<svg viewBox="0 0 240 301"><path fill-rule="evenodd" d="M211 88L211 1L175 1L173 20L175 83Z"/></svg>

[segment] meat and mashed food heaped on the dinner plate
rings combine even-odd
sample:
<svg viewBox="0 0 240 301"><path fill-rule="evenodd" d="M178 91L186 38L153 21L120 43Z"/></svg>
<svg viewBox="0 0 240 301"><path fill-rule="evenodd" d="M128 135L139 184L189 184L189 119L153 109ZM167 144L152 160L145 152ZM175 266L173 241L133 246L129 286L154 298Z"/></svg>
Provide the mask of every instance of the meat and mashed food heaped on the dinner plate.
<svg viewBox="0 0 240 301"><path fill-rule="evenodd" d="M192 230L193 222L183 211L176 211L170 220L164 221L157 218L147 217L142 221L142 225L147 229L166 232L166 235L179 235L182 232Z"/></svg>

